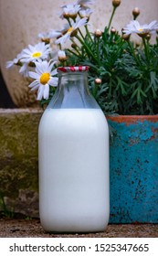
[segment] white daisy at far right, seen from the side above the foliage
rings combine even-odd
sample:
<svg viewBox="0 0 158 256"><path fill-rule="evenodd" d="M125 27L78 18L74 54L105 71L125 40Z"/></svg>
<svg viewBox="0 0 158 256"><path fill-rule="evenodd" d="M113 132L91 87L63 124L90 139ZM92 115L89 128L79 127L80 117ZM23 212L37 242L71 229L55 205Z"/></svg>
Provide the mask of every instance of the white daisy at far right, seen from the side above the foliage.
<svg viewBox="0 0 158 256"><path fill-rule="evenodd" d="M126 35L131 35L132 33L136 33L138 35L147 35L156 33L156 29L158 28L158 23L156 20L151 22L149 25L144 24L140 25L137 20L132 20L126 27L123 28L122 32Z"/></svg>

